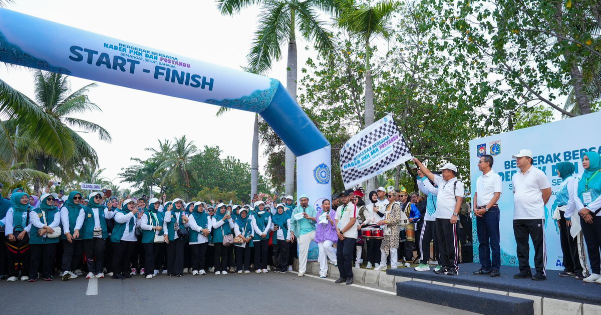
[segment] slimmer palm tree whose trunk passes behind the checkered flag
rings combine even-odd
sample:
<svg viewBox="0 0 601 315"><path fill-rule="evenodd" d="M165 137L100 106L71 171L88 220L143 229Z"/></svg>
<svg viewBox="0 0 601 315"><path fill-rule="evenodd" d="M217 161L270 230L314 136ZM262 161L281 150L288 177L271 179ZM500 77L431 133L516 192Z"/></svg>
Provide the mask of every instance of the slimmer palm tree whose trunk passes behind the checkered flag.
<svg viewBox="0 0 601 315"><path fill-rule="evenodd" d="M354 0L335 0L340 13L336 21L338 26L355 34L365 43L365 128L374 122L374 91L371 82L370 41L374 37L388 40L392 29L390 20L392 14L401 7L401 2L382 0L376 5L355 5ZM368 181L367 191L376 189L376 179Z"/></svg>

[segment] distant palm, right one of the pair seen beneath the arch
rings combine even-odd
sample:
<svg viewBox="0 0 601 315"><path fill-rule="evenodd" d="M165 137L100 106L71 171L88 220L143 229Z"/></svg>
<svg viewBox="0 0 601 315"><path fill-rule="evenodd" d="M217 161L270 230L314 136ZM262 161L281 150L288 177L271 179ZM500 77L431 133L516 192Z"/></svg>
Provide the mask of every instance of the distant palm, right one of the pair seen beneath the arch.
<svg viewBox="0 0 601 315"><path fill-rule="evenodd" d="M193 144L194 141L188 142L186 136L182 136L180 139L174 139L175 143L172 147L172 154L159 165L154 173L157 174L160 171L165 171L165 175L163 175L163 178L161 179L162 184L167 180L174 182L183 180L185 184L189 186L191 178L198 178L196 170L190 163L192 155L197 151L197 147Z"/></svg>

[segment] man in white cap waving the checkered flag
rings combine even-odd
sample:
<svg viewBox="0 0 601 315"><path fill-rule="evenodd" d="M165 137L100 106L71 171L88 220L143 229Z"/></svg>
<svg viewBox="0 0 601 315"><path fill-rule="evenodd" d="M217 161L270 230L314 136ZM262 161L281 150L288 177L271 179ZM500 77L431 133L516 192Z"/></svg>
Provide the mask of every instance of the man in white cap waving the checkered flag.
<svg viewBox="0 0 601 315"><path fill-rule="evenodd" d="M436 274L457 275L459 266L459 244L457 235L459 224L457 218L463 202L463 183L457 179L457 166L453 163L444 164L440 168L441 175L435 175L427 169L417 158L413 158L421 172L438 185L438 199L436 199L436 235L441 251L440 262L442 268Z"/></svg>

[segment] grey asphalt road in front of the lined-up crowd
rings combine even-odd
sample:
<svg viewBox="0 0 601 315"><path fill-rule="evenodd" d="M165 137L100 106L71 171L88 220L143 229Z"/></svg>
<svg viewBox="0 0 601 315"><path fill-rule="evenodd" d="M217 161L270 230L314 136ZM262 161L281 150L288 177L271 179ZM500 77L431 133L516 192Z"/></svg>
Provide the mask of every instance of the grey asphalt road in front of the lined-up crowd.
<svg viewBox="0 0 601 315"><path fill-rule="evenodd" d="M471 314L291 272L2 281L0 292L2 314Z"/></svg>

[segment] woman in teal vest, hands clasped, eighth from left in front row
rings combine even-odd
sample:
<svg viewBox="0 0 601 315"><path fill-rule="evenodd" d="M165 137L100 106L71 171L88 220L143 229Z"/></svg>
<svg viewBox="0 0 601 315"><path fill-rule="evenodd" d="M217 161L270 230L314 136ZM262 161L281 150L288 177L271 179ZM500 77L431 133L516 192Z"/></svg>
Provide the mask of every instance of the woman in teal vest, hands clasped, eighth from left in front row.
<svg viewBox="0 0 601 315"><path fill-rule="evenodd" d="M209 215L204 212L204 203L195 202L192 214L189 217L190 247L192 275L205 275L204 263L209 247L209 235L213 229L213 223Z"/></svg>

